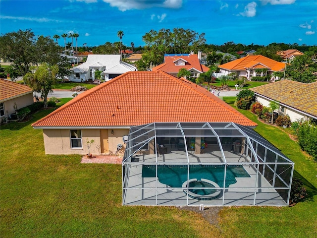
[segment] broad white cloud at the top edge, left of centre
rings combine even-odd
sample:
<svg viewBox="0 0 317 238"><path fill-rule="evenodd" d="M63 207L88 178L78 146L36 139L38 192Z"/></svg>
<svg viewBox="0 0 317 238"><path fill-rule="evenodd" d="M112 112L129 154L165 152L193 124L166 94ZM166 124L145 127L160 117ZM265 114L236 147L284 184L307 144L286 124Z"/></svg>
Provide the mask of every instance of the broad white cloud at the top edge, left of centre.
<svg viewBox="0 0 317 238"><path fill-rule="evenodd" d="M131 9L144 9L151 7L180 8L183 0L103 0L120 11Z"/></svg>

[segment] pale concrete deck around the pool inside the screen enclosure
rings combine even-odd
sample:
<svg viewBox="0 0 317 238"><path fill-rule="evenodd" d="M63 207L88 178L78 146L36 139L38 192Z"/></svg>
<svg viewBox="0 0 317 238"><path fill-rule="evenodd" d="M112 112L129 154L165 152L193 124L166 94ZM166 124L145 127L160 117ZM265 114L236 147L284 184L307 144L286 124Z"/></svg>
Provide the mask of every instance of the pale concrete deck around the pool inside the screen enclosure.
<svg viewBox="0 0 317 238"><path fill-rule="evenodd" d="M226 188L220 188L220 195L213 200L197 200L188 197L182 188L172 188L160 183L156 178L142 178L142 163L155 162L155 155L138 155L139 163L131 164L124 205L166 205L166 206L240 206L240 205L263 205L263 206L286 206L286 202L261 175L257 176L253 165L243 164L245 156L230 151L224 152L227 162L239 163L248 172L250 178L236 178L237 182ZM221 163L219 151L208 151L195 155L189 152L191 163ZM239 161L239 162L238 162ZM162 163L185 163L188 160L185 151L169 151L159 155L158 162ZM257 189L255 188L257 184ZM157 187L157 189L156 189ZM285 190L287 191L287 190ZM256 199L255 199L256 198Z"/></svg>

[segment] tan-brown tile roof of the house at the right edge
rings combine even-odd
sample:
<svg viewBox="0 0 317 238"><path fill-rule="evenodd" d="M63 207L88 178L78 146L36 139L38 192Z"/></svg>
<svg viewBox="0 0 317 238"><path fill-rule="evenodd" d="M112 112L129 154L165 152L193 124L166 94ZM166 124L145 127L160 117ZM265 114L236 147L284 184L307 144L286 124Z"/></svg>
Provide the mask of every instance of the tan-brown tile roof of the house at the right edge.
<svg viewBox="0 0 317 238"><path fill-rule="evenodd" d="M300 83L285 79L250 88L250 90L317 117L317 82Z"/></svg>

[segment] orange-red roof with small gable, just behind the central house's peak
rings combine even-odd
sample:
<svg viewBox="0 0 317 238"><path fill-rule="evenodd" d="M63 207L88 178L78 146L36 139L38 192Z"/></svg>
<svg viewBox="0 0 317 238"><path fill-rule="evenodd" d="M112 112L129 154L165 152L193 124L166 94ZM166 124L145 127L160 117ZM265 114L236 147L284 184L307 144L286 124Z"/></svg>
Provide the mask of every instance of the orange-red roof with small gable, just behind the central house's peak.
<svg viewBox="0 0 317 238"><path fill-rule="evenodd" d="M186 60L185 65L175 65L175 61L183 59ZM162 70L166 73L178 73L178 71L181 68L186 68L187 70L195 68L196 70L200 72L207 72L209 70L209 67L206 67L203 64L200 64L200 61L198 59L198 55L184 55L184 56L165 56L164 57L164 63L159 64L158 66L155 66L152 68L152 71Z"/></svg>

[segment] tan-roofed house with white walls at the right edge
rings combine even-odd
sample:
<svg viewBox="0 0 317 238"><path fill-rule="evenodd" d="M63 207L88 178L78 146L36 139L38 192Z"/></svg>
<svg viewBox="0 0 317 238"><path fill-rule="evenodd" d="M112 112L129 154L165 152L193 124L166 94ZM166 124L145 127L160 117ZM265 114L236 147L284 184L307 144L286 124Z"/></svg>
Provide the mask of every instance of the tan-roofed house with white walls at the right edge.
<svg viewBox="0 0 317 238"><path fill-rule="evenodd" d="M250 88L257 101L268 106L270 101L278 102L278 113L297 119L317 119L317 82L300 83L291 80L265 84Z"/></svg>

